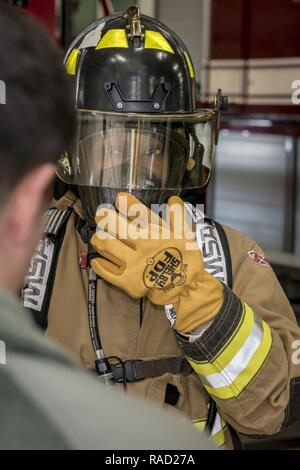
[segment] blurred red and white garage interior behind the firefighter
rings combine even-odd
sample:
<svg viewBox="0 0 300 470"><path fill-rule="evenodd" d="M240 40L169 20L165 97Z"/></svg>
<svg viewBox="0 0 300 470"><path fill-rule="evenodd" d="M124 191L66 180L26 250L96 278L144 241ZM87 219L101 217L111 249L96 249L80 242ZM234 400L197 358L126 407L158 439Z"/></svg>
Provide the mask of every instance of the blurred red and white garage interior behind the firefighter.
<svg viewBox="0 0 300 470"><path fill-rule="evenodd" d="M134 2L7 3L37 16L66 49L95 18ZM201 81L199 105L218 88L229 96L206 211L262 245L300 322L300 104L292 102L300 81L300 0L137 3L183 38Z"/></svg>

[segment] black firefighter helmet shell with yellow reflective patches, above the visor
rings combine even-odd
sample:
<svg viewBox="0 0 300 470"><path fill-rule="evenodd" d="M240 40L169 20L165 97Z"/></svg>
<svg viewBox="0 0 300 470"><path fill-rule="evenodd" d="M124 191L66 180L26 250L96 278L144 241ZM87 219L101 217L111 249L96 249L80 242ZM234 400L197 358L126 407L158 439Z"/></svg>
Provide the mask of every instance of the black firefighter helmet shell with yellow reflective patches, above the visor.
<svg viewBox="0 0 300 470"><path fill-rule="evenodd" d="M142 37L130 38L124 13L88 26L71 45L78 109L192 113L195 75L183 42L161 22L141 15Z"/></svg>

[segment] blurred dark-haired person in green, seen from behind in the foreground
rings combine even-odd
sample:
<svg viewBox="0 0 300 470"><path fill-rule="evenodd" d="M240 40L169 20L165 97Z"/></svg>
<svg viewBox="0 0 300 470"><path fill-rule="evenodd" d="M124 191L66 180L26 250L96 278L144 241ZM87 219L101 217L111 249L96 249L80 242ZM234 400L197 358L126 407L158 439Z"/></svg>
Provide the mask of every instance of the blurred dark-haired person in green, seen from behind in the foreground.
<svg viewBox="0 0 300 470"><path fill-rule="evenodd" d="M208 448L189 424L78 369L19 305L75 117L56 48L29 16L1 3L0 79L0 448Z"/></svg>

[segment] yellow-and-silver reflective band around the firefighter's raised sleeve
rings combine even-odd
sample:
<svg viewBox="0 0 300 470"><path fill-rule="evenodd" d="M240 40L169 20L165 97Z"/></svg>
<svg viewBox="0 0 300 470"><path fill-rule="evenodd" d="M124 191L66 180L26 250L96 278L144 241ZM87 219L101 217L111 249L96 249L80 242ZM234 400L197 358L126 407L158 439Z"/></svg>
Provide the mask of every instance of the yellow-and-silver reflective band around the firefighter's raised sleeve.
<svg viewBox="0 0 300 470"><path fill-rule="evenodd" d="M222 356L217 357L209 368L207 364L199 364L191 359L189 362L199 374L200 379L210 395L221 399L229 399L238 396L256 376L263 366L272 345L272 334L269 326L259 318L255 318L250 307L246 307L244 322L247 328L251 325L249 334L245 337L243 327L234 337L234 350L241 344L239 351L232 357L232 351L227 356L232 357L227 364L222 363ZM252 323L252 319L255 319ZM239 336L239 338L237 338ZM237 341L238 340L238 341ZM231 344L227 345L230 350ZM223 352L223 357L224 357Z"/></svg>

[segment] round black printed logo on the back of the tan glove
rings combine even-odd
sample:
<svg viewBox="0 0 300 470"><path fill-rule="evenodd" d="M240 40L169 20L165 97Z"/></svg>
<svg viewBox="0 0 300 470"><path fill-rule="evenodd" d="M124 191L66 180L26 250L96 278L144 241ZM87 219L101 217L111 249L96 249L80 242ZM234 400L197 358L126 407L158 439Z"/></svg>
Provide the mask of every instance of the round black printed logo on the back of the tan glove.
<svg viewBox="0 0 300 470"><path fill-rule="evenodd" d="M186 269L180 251L167 248L147 260L144 284L147 288L164 291L183 286L186 281Z"/></svg>

